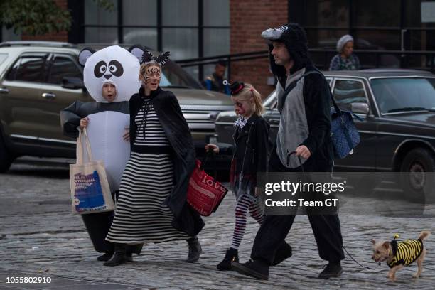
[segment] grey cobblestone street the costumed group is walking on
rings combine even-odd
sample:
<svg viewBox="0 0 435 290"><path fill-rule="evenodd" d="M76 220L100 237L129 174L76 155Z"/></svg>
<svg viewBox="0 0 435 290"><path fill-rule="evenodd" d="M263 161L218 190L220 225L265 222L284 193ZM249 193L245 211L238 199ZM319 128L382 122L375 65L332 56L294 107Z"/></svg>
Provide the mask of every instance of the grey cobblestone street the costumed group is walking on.
<svg viewBox="0 0 435 290"><path fill-rule="evenodd" d="M217 213L205 218L199 239L203 254L198 263L183 262L186 242L146 245L135 262L107 268L79 216L70 214L68 166L33 166L16 163L0 174L0 289L434 289L435 237L429 237L420 279L416 265L402 269L397 282L387 281L388 268L370 260L370 239L414 238L421 230L434 232L434 215L340 214L344 244L363 269L348 256L338 279L319 280L326 264L318 257L308 219L298 215L287 237L294 255L272 267L269 281L246 278L215 267L230 245L234 198L227 195ZM379 200L352 198L349 203L371 207ZM406 206L404 207L406 208ZM249 258L258 226L249 218L240 258ZM50 276L51 284L6 284L11 276Z"/></svg>

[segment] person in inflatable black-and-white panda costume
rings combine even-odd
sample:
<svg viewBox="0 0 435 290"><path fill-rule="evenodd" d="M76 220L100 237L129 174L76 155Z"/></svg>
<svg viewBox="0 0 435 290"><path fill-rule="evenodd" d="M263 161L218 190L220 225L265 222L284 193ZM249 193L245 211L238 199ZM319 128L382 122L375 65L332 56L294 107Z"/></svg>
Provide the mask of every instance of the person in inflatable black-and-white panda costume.
<svg viewBox="0 0 435 290"><path fill-rule="evenodd" d="M79 130L87 128L92 157L104 161L112 196L117 198L122 172L129 159L129 99L138 92L139 60L117 45L102 50L83 48L78 56L84 65L85 87L95 102L76 101L60 112L66 136L77 139ZM114 212L82 215L87 232L97 252L104 253L99 261L108 261L114 244L105 240ZM127 258L139 254L142 245L130 245Z"/></svg>

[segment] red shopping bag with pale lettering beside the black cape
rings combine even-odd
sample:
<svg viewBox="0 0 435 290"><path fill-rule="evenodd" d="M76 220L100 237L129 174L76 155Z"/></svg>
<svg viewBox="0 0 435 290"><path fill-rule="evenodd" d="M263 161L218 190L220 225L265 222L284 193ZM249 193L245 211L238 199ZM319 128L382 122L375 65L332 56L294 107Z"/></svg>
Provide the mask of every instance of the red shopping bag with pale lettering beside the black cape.
<svg viewBox="0 0 435 290"><path fill-rule="evenodd" d="M207 217L218 209L227 192L225 186L205 173L201 161L197 159L195 170L190 176L188 204L200 215Z"/></svg>

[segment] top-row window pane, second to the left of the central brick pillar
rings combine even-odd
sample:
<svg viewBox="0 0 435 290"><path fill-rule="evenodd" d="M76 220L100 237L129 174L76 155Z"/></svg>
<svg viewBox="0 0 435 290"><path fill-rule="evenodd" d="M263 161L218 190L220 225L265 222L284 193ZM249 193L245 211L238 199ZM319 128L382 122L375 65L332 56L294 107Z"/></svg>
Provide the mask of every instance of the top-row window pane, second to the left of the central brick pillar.
<svg viewBox="0 0 435 290"><path fill-rule="evenodd" d="M163 0L163 26L197 26L198 0Z"/></svg>

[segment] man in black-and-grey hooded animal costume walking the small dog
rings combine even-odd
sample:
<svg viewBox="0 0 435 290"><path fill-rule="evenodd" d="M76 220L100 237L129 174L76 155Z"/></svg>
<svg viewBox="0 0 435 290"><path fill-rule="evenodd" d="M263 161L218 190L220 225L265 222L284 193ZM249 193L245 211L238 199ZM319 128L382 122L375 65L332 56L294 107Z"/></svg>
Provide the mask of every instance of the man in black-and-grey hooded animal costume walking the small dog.
<svg viewBox="0 0 435 290"><path fill-rule="evenodd" d="M278 80L276 96L281 114L269 172L301 172L302 166L305 172L331 172L330 88L308 58L304 29L296 23L288 23L279 29L263 31L262 38L269 42L270 65ZM286 92L289 86L293 88ZM296 154L291 154L293 151ZM344 254L338 215L306 210L320 257L328 261L319 278L339 276ZM291 247L285 238L294 218L295 215L265 215L252 247L252 261L233 263L233 269L258 279L269 279L269 266L291 257Z"/></svg>

